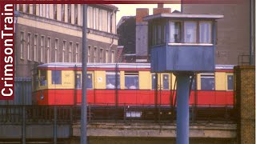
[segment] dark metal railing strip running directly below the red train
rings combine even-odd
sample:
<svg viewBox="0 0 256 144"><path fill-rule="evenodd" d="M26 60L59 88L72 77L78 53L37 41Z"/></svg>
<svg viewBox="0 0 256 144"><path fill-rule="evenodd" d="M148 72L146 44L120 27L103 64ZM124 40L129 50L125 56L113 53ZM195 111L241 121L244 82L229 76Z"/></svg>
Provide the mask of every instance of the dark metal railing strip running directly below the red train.
<svg viewBox="0 0 256 144"><path fill-rule="evenodd" d="M175 122L176 119L176 110L170 106L89 105L87 110L88 122ZM22 123L23 119L26 123L72 124L80 122L81 107L0 106L0 123ZM234 122L235 119L234 106L190 107L190 122Z"/></svg>

